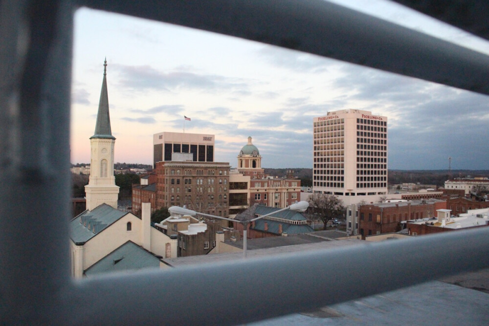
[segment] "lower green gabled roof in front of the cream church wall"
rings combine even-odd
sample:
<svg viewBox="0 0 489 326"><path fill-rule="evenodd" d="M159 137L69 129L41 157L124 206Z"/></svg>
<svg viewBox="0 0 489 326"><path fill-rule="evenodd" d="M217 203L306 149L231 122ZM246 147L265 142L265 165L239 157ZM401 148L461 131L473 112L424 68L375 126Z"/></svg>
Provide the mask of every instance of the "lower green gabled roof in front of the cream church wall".
<svg viewBox="0 0 489 326"><path fill-rule="evenodd" d="M117 271L134 271L142 268L159 267L159 258L132 241L127 241L110 254L91 265L85 275Z"/></svg>

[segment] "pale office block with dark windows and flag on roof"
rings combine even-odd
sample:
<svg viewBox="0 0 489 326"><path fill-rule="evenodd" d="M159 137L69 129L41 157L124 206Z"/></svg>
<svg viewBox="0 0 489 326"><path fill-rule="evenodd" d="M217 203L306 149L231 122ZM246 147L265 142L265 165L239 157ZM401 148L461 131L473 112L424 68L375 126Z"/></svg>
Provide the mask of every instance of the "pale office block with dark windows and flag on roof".
<svg viewBox="0 0 489 326"><path fill-rule="evenodd" d="M173 153L191 153L194 162L214 162L214 135L160 132L153 135L153 168L156 162L177 161Z"/></svg>

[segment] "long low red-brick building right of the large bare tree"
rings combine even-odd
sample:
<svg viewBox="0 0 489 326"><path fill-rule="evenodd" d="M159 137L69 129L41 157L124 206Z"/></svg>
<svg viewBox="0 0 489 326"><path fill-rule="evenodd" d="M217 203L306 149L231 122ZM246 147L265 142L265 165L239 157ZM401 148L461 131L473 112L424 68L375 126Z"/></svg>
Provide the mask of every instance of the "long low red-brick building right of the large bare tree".
<svg viewBox="0 0 489 326"><path fill-rule="evenodd" d="M365 239L365 236L397 232L401 229L400 221L434 217L438 209L446 209L446 201L423 199L361 205L358 207L358 234Z"/></svg>

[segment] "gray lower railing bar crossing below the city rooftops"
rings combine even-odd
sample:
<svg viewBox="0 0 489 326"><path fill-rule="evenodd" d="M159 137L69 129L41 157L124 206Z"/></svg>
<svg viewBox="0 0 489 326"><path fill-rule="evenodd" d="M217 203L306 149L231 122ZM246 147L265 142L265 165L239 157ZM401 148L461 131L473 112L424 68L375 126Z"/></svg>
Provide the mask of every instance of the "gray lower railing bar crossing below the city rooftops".
<svg viewBox="0 0 489 326"><path fill-rule="evenodd" d="M241 324L487 267L488 257L489 228L478 228L104 276L76 282L67 300L78 303L70 314L79 324L113 324L117 318L129 324ZM317 277L311 282L306 275Z"/></svg>

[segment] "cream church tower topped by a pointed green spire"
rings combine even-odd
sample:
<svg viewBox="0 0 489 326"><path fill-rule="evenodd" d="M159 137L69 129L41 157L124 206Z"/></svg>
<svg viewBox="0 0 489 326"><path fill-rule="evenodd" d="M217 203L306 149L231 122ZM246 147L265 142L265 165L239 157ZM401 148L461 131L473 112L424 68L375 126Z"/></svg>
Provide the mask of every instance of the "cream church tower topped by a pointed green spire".
<svg viewBox="0 0 489 326"><path fill-rule="evenodd" d="M97 124L95 133L90 137L90 178L85 186L87 209L93 210L100 204L106 203L117 208L119 187L115 185L114 177L114 145L111 118L109 115L109 95L107 92L107 60L104 61L104 79L98 104Z"/></svg>

